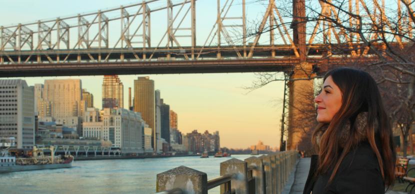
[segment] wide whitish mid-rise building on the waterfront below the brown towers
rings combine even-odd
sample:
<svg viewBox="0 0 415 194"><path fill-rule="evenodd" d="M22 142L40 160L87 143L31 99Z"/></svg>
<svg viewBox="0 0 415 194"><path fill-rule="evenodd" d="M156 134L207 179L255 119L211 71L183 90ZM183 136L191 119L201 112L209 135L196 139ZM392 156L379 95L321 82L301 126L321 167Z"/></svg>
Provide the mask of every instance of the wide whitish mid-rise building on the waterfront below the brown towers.
<svg viewBox="0 0 415 194"><path fill-rule="evenodd" d="M104 108L102 120L97 109L88 108L83 122L83 137L109 140L122 153L142 153L143 120L139 112L124 108Z"/></svg>

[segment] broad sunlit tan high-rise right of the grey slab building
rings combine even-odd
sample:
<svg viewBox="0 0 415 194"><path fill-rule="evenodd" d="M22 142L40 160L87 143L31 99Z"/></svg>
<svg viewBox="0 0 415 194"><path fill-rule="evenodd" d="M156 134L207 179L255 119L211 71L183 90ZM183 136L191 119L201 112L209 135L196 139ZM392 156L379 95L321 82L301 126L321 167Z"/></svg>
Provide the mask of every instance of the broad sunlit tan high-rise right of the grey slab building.
<svg viewBox="0 0 415 194"><path fill-rule="evenodd" d="M81 116L86 105L82 100L80 79L44 80L42 106L40 121L56 121L56 124L74 128L79 136L82 135Z"/></svg>

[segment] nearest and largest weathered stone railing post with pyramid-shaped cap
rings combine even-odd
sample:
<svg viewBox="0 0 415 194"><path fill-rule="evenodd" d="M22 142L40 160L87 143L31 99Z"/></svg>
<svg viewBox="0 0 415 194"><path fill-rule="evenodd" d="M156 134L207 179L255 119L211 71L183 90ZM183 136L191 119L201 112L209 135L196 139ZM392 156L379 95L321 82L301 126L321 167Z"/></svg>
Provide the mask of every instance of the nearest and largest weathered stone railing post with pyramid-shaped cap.
<svg viewBox="0 0 415 194"><path fill-rule="evenodd" d="M156 192L173 188L181 188L185 193L207 194L207 175L183 165L157 174Z"/></svg>

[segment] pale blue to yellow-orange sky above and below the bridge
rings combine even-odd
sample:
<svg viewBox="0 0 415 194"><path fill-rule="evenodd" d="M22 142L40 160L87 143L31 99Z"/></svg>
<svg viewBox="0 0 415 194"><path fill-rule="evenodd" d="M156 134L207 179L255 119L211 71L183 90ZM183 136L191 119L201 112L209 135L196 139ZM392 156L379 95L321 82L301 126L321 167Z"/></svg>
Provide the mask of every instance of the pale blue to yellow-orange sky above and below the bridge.
<svg viewBox="0 0 415 194"><path fill-rule="evenodd" d="M172 0L173 3L180 0ZM119 7L133 0L3 0L0 7L0 25L27 23L36 20L93 12L98 9ZM196 1L197 44L202 45L208 38L216 17L216 2L213 0ZM228 16L240 11L240 0L235 0ZM238 4L239 2L239 4ZM247 0L247 20L257 20L264 10L262 4L249 4ZM224 0L221 0L224 3ZM156 2L154 7L164 6L165 1ZM166 23L165 13L152 13L151 39L156 45L163 35L162 23ZM263 13L262 13L263 14ZM110 17L111 15L107 15ZM156 25L154 25L156 23ZM71 24L71 23L69 23ZM113 45L118 36L118 25L110 26L109 44ZM115 35L113 35L115 34ZM119 34L119 32L118 32ZM73 34L72 34L73 35ZM73 42L71 35L71 41ZM76 34L75 34L76 35ZM269 37L269 36L268 36ZM76 36L74 37L76 41ZM188 40L181 40L184 44ZM265 42L266 40L260 40ZM37 42L37 41L35 41ZM163 40L161 40L163 42ZM199 74L150 74L119 75L124 85L124 107L128 106L128 87L133 90L133 80L137 76L149 76L155 82L155 89L161 92L161 98L178 115L178 129L184 134L197 129L199 132L219 131L220 145L230 148L247 148L258 140L272 147L279 146L279 130L283 97L283 82L275 81L248 92L245 86L256 80L254 73L199 73ZM28 85L43 83L45 79L81 79L82 88L94 96L94 106L101 108L101 84L103 75L95 76L54 76L54 77L18 77L25 79Z"/></svg>

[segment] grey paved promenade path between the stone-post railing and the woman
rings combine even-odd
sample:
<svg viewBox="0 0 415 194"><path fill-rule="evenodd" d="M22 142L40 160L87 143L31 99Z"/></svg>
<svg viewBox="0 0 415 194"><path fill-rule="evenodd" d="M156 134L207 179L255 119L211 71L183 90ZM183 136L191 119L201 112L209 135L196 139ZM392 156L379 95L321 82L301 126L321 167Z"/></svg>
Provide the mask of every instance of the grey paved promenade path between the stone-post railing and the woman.
<svg viewBox="0 0 415 194"><path fill-rule="evenodd" d="M302 194L302 189L304 188L305 181L307 180L309 168L310 168L310 158L309 157L300 158L299 162L297 162L297 165L294 169L295 172L291 173L290 178L288 178L287 186L284 188L284 191L282 193ZM403 193L405 192L396 192L392 190L389 190L386 192L386 194L403 194Z"/></svg>

